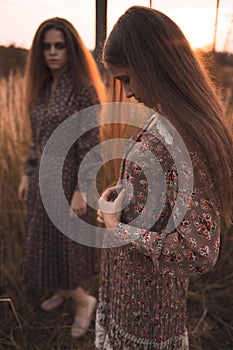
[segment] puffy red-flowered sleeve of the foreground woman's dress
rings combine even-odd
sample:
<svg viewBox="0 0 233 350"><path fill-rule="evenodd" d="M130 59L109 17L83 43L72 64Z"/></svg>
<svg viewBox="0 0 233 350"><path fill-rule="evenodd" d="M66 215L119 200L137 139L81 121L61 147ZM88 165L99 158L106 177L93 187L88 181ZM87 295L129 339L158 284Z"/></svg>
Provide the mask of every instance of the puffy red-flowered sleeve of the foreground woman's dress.
<svg viewBox="0 0 233 350"><path fill-rule="evenodd" d="M156 156L162 160L164 166L167 201L163 211L174 216L173 209L179 191L177 168L171 157L167 155L165 147L159 142L157 145L153 142L141 144L137 152L146 152L148 145L150 150L156 147ZM171 232L167 232L164 227L158 230L154 230L153 227L146 230L131 226L130 223L121 222L117 225L116 235L125 243L130 243L132 249L149 255L160 273L188 277L205 273L217 261L220 246L219 208L213 180L205 161L200 159L198 153L191 154L193 191L187 202L185 216ZM185 164L183 167L188 174ZM153 172L153 169L151 171ZM183 191L180 206L182 206L182 196L184 198L185 195L187 194ZM145 219L147 215L149 212L145 213ZM164 212L161 216L163 215Z"/></svg>

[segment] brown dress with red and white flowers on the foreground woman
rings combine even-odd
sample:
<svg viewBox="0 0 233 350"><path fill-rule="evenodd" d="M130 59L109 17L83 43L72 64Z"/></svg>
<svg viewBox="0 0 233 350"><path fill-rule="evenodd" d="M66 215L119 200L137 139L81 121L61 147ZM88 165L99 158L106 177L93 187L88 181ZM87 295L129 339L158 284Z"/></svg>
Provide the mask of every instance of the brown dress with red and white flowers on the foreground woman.
<svg viewBox="0 0 233 350"><path fill-rule="evenodd" d="M183 220L171 232L165 228L176 203L179 176L177 161L166 147L172 142L169 131L160 129L156 123L153 128L139 132L134 137L137 142L122 163L121 179L129 192L133 185L133 192L114 231L125 245L104 249L102 253L97 349L188 349L185 325L188 280L216 263L220 215L206 158L187 133L182 136L189 145L193 191ZM153 210L145 210L138 225L131 222L144 209L148 193L153 197L158 187L158 162L151 154L165 175L166 200L160 216L148 230L144 222L150 220ZM185 163L180 165L189 181L191 169ZM150 184L142 171L147 167L152 175ZM180 206L185 196L185 190L181 191Z"/></svg>

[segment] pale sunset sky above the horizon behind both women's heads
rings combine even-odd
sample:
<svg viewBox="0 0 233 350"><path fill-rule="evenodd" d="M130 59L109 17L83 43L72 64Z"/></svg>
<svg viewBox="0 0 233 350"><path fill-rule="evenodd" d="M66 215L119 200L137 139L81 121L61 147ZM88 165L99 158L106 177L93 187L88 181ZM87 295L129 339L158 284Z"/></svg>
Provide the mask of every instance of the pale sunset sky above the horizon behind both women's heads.
<svg viewBox="0 0 233 350"><path fill-rule="evenodd" d="M194 48L212 45L217 0L153 0L152 7L171 17ZM108 31L132 5L149 0L108 0ZM0 0L0 45L30 48L39 24L64 17L77 28L88 48L95 46L95 0ZM233 16L232 0L220 0L216 49L225 48ZM233 52L233 28L227 51Z"/></svg>

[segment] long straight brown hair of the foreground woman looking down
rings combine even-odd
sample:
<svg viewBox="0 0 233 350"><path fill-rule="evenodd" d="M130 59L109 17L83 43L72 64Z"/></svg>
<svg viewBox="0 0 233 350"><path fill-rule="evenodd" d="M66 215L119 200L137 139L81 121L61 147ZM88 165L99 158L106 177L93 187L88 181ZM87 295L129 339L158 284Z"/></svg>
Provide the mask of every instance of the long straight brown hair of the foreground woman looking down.
<svg viewBox="0 0 233 350"><path fill-rule="evenodd" d="M215 180L222 218L232 220L232 135L215 88L180 28L165 14L133 6L103 50L103 61L130 67L162 113L201 147Z"/></svg>

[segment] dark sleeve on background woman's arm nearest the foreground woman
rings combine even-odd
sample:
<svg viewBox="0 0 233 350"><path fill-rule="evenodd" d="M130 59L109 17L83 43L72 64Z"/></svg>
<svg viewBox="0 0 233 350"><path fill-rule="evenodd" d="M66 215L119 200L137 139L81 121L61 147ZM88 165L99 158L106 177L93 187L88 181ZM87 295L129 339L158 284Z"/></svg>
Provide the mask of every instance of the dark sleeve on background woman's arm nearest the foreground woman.
<svg viewBox="0 0 233 350"><path fill-rule="evenodd" d="M97 97L95 89L92 86L83 87L79 95L79 110L86 109L85 115L87 118L85 118L85 120L87 120L87 122L82 121L80 128L82 129L83 133L79 140L75 143L78 168L75 189L80 190L79 178L81 178L81 192L84 193L88 191L90 183L93 182L93 168L95 168L95 166L102 160L99 150L94 149L94 147L97 146L100 142L99 126L90 129L88 125L89 118L92 118L92 120L96 122L96 125L99 125L98 120L100 108L88 109L88 107L98 104L99 99ZM88 130L88 132L85 132L85 130ZM92 151L90 162L85 163L85 166L80 167L83 158L90 151Z"/></svg>

